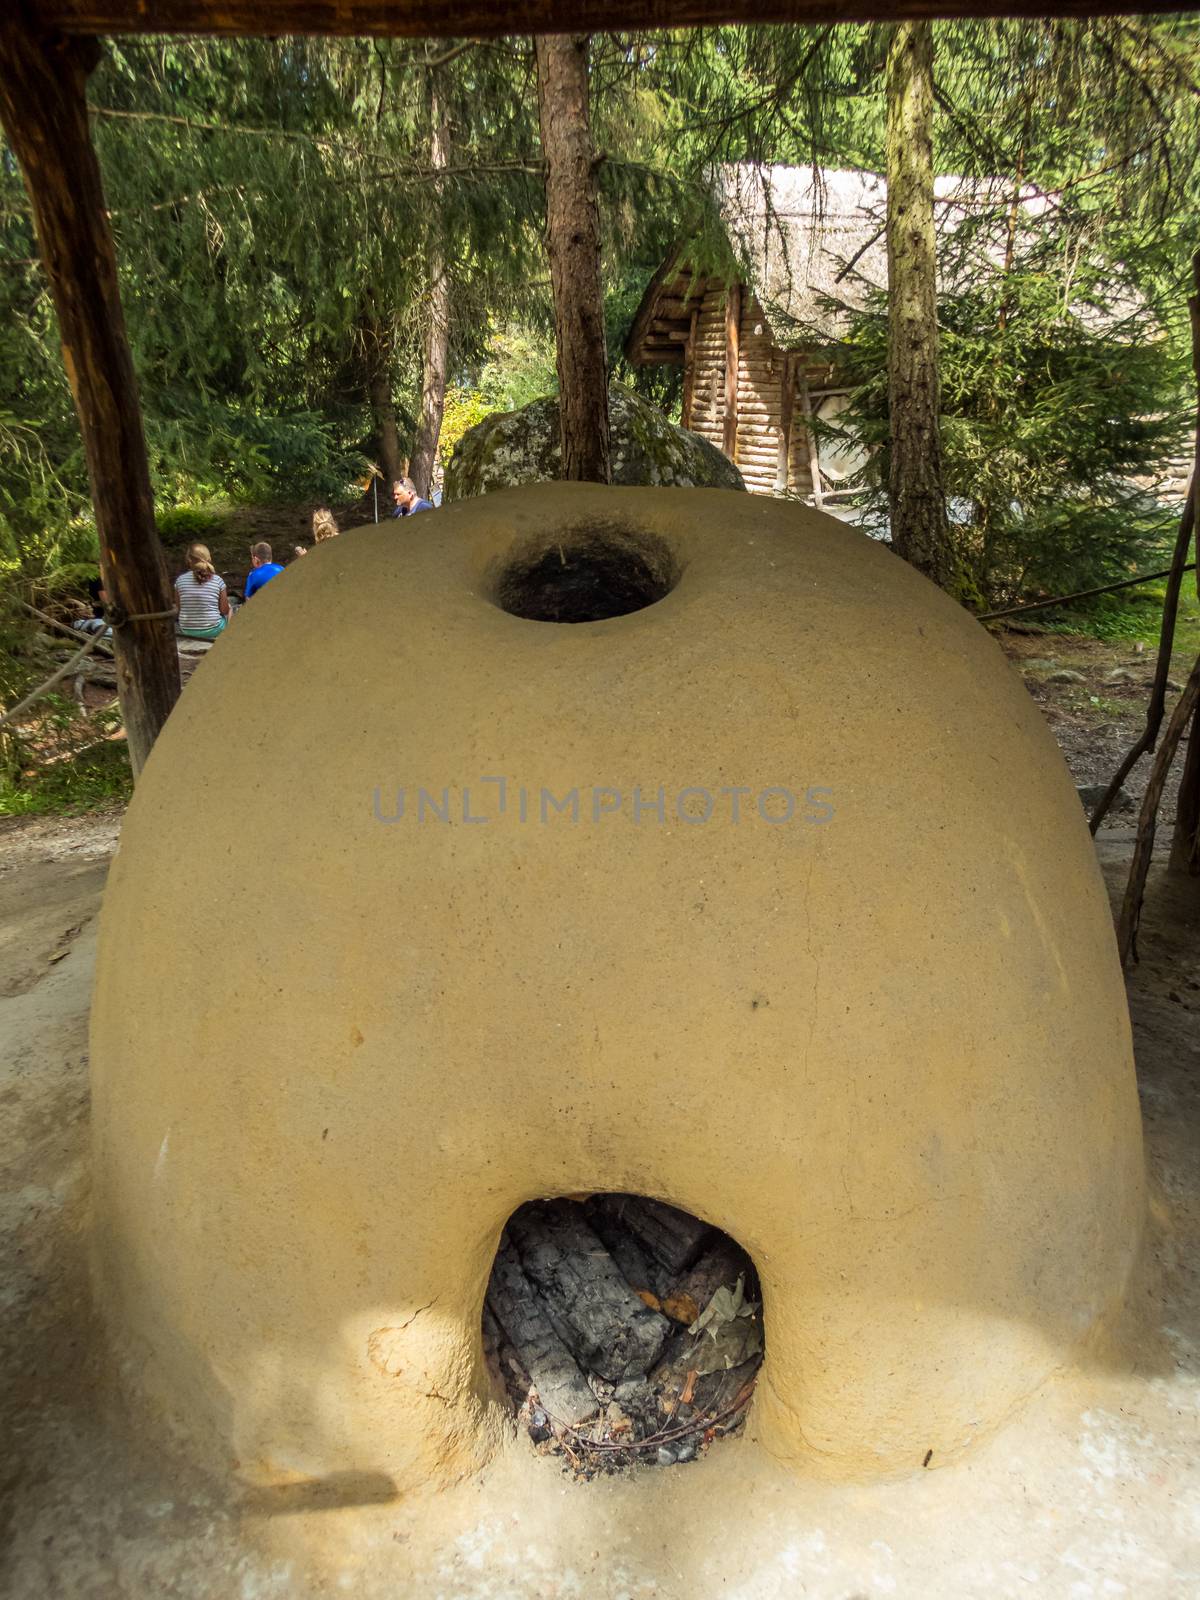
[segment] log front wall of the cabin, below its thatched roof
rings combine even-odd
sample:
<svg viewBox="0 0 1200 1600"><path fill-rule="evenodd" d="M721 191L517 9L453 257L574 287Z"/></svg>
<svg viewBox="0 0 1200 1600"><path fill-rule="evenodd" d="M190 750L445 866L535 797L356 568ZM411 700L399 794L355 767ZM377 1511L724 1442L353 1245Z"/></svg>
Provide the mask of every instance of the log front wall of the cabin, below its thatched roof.
<svg viewBox="0 0 1200 1600"><path fill-rule="evenodd" d="M752 494L813 493L811 442L797 405L803 376L810 389L829 384L827 363L806 360L803 352L781 350L750 290L741 291L736 389L728 382L728 299L709 288L699 302L691 336L691 362L685 371L690 402L688 426L717 450L726 450L734 434L733 461ZM736 432L726 429L726 395L736 394ZM726 451L730 453L730 451ZM784 474L786 462L786 474Z"/></svg>

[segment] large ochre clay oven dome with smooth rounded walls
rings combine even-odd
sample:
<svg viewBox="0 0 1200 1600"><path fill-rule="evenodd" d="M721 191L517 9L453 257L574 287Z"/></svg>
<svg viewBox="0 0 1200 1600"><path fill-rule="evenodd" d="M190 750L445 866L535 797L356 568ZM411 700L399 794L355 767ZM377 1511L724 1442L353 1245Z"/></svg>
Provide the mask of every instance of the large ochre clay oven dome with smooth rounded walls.
<svg viewBox="0 0 1200 1600"><path fill-rule="evenodd" d="M138 787L93 1061L110 1328L256 1477L482 1461L480 1306L538 1195L731 1234L750 1430L846 1474L982 1437L1138 1242L1109 910L1037 709L886 550L742 494L517 490L275 579Z"/></svg>

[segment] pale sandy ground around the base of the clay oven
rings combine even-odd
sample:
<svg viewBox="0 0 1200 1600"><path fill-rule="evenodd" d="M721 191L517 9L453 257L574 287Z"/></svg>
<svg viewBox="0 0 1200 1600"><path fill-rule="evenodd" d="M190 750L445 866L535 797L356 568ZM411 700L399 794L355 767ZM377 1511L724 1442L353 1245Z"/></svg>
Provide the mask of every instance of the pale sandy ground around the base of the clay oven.
<svg viewBox="0 0 1200 1600"><path fill-rule="evenodd" d="M1200 1594L1195 890L1155 875L1131 978L1152 1218L1125 1354L1045 1386L960 1464L835 1486L747 1438L691 1466L581 1485L514 1438L480 1477L411 1501L370 1472L344 1493L240 1494L128 1429L90 1307L86 1014L117 826L38 821L0 835L0 1594ZM1128 835L1099 850L1117 886Z"/></svg>

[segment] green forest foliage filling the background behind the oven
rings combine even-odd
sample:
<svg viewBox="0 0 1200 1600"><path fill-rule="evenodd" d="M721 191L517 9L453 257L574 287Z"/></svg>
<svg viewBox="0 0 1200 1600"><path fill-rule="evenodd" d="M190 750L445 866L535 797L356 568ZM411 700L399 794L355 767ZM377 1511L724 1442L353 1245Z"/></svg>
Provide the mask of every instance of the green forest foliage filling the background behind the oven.
<svg viewBox="0 0 1200 1600"><path fill-rule="evenodd" d="M621 347L677 242L698 264L728 261L714 165L878 170L886 38L862 24L592 38L610 358L667 414L680 370L626 371ZM1058 261L1014 264L1006 299L979 288L942 307L966 581L1005 595L1123 570L1158 523L1118 485L1170 434L1139 419L1176 414L1186 357L1200 22L950 19L936 42L939 171L1059 197ZM482 406L554 390L530 40L118 40L90 98L163 512L336 501L379 458L376 365L408 448L437 251L451 285L443 459ZM1075 339L1056 312L1067 280L1074 302L1112 299L1080 283L1078 261L1120 261L1141 294L1147 322L1122 349ZM880 437L877 325L856 357ZM86 504L29 206L0 160L3 581L74 582L94 554L72 542Z"/></svg>

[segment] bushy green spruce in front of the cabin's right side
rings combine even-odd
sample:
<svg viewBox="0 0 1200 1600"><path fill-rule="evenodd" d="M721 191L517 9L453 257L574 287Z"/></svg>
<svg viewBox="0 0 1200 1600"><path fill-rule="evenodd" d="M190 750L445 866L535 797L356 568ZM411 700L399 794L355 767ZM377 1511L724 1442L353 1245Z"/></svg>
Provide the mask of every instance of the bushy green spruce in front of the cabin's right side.
<svg viewBox="0 0 1200 1600"><path fill-rule="evenodd" d="M986 602L1101 584L1149 565L1176 512L1131 478L1186 437L1178 349L1112 266L1061 227L1008 272L944 294L942 454L965 573ZM843 430L875 446L886 514L886 306L854 322Z"/></svg>

